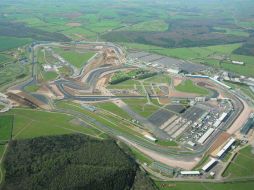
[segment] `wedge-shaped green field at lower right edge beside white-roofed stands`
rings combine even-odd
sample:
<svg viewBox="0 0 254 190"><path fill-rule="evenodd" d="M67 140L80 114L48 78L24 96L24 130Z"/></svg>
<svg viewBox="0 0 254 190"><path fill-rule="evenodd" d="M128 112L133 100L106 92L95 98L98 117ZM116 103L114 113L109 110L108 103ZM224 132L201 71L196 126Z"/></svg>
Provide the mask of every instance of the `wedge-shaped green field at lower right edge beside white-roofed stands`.
<svg viewBox="0 0 254 190"><path fill-rule="evenodd" d="M251 146L240 150L223 173L224 177L234 178L254 175L254 153Z"/></svg>

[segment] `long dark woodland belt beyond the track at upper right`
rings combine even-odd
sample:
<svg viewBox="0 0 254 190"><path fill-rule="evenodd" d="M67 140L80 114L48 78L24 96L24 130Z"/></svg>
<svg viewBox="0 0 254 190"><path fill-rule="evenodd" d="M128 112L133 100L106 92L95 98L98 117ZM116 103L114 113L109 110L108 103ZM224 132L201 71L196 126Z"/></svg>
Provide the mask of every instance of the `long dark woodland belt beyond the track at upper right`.
<svg viewBox="0 0 254 190"><path fill-rule="evenodd" d="M198 18L191 20L171 19L167 31L112 31L102 37L113 42L136 42L160 47L199 47L244 42L246 38L239 35L228 35L213 32L211 27L224 26L224 20ZM234 23L229 24L233 27ZM200 33L202 32L202 35Z"/></svg>

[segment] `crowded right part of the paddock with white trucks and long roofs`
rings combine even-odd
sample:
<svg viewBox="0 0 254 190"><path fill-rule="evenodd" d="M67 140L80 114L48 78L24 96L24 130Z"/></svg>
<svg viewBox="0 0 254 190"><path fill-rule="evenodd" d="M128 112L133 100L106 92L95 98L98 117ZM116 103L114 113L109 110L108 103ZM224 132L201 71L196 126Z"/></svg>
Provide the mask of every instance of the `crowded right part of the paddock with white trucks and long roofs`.
<svg viewBox="0 0 254 190"><path fill-rule="evenodd" d="M209 104L190 108L183 115L190 122L190 125L180 136L180 142L190 148L198 148L198 146L204 145L215 131L222 129L231 113L232 105L228 100L218 102L216 108Z"/></svg>

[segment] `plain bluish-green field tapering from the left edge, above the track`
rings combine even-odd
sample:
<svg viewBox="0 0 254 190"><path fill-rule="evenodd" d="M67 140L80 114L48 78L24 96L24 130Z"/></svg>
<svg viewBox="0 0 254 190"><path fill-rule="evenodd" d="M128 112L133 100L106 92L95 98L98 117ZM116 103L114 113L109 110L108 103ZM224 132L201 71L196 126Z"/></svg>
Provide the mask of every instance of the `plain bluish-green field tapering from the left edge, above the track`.
<svg viewBox="0 0 254 190"><path fill-rule="evenodd" d="M26 45L31 43L32 40L29 38L14 38L14 37L7 37L7 36L0 36L0 52L18 48L20 46Z"/></svg>

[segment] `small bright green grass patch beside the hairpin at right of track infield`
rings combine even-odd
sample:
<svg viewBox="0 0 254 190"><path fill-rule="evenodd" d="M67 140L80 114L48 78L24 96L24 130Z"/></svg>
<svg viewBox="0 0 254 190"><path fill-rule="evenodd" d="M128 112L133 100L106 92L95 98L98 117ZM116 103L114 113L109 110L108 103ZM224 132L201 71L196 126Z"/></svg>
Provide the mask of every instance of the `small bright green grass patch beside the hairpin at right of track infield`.
<svg viewBox="0 0 254 190"><path fill-rule="evenodd" d="M194 93L199 95L207 95L208 91L205 88L195 85L192 80L185 80L175 87L180 92Z"/></svg>

